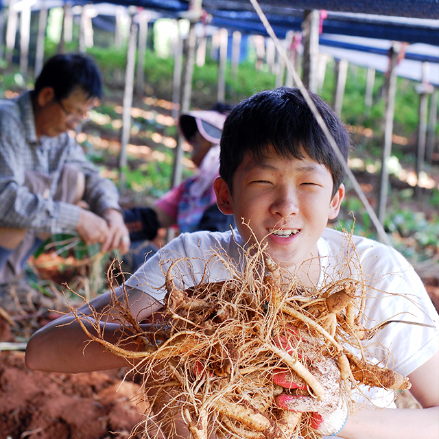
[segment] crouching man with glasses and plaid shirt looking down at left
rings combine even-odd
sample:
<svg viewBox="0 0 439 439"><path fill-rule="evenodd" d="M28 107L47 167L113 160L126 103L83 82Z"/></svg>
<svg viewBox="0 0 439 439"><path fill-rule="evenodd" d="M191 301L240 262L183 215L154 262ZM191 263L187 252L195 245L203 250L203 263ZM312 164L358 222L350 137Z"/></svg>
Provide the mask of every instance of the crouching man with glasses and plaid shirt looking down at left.
<svg viewBox="0 0 439 439"><path fill-rule="evenodd" d="M67 54L47 61L33 91L0 101L0 284L19 278L51 234L78 233L103 252L128 250L115 185L67 133L101 94L94 62Z"/></svg>

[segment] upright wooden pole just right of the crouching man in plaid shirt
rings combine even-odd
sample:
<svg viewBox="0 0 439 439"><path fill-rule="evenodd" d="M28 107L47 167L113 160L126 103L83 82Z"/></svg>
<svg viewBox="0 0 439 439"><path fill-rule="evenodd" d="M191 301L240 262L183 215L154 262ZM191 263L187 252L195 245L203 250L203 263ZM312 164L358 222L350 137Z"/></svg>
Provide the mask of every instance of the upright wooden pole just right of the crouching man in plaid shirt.
<svg viewBox="0 0 439 439"><path fill-rule="evenodd" d="M128 40L128 51L126 56L125 70L125 89L123 91L123 112L121 130L121 152L119 155L119 185L121 191L126 184L126 147L130 141L131 132L131 107L132 93L134 89L134 71L136 65L136 46L137 46L137 23L134 23L134 13L131 14L130 39Z"/></svg>

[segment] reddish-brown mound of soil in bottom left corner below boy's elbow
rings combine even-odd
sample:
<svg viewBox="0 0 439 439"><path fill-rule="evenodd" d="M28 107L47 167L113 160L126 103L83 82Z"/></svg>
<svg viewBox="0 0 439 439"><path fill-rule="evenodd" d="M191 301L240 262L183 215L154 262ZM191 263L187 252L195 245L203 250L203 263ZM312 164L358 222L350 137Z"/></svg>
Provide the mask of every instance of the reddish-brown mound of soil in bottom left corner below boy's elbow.
<svg viewBox="0 0 439 439"><path fill-rule="evenodd" d="M33 372L0 353L0 439L126 439L141 422L139 385L118 371Z"/></svg>

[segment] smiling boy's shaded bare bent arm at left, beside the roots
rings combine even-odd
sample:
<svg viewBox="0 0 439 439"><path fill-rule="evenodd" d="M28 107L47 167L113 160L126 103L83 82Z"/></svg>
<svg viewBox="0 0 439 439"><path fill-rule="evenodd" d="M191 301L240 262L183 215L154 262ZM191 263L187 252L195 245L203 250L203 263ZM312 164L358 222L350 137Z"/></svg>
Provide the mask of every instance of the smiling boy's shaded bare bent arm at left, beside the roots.
<svg viewBox="0 0 439 439"><path fill-rule="evenodd" d="M120 294L120 289L116 289ZM156 313L162 305L139 289L131 289L129 294L132 315L138 320L143 320ZM108 309L110 294L105 293L91 300L90 305L97 312ZM83 305L78 311L91 315L88 305ZM106 322L105 338L108 342L115 343L121 335L121 325L104 311ZM85 322L91 333L95 333L92 325ZM137 349L137 345L125 345L127 349ZM25 361L28 368L45 370L47 372L91 372L93 370L106 370L121 368L128 365L128 361L106 351L97 342L90 342L73 314L62 316L32 335L27 344Z"/></svg>

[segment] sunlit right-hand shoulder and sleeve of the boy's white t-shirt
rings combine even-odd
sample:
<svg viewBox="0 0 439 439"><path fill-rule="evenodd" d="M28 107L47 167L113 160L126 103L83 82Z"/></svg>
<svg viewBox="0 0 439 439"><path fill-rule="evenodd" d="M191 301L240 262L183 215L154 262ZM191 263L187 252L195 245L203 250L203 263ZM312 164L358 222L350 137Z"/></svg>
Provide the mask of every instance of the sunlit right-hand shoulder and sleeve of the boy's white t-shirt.
<svg viewBox="0 0 439 439"><path fill-rule="evenodd" d="M347 239L333 229L325 230L323 240L328 277L344 272L364 288L364 328L389 322L362 342L368 361L404 376L423 365L439 349L438 312L409 261L390 246L355 235Z"/></svg>

